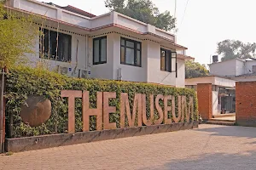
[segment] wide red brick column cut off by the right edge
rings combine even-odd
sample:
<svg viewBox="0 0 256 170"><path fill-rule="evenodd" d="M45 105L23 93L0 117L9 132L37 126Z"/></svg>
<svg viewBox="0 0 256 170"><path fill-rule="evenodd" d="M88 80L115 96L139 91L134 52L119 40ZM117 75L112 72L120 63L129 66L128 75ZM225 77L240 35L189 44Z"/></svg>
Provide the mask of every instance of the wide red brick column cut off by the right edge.
<svg viewBox="0 0 256 170"><path fill-rule="evenodd" d="M256 127L256 82L236 82L236 123Z"/></svg>

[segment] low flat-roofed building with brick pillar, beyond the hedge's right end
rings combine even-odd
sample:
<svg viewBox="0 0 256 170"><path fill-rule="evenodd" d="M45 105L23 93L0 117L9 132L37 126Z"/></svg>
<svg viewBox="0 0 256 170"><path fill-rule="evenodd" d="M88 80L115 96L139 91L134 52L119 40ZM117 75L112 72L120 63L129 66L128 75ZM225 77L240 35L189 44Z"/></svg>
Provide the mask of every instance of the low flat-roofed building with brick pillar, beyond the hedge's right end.
<svg viewBox="0 0 256 170"><path fill-rule="evenodd" d="M218 116L221 113L236 112L236 81L224 77L209 76L189 78L186 79L185 83L186 88L196 90L199 113L204 115L203 119L211 119L211 116ZM206 97L208 100L205 99ZM210 109L201 111L201 108L203 110L206 106Z"/></svg>

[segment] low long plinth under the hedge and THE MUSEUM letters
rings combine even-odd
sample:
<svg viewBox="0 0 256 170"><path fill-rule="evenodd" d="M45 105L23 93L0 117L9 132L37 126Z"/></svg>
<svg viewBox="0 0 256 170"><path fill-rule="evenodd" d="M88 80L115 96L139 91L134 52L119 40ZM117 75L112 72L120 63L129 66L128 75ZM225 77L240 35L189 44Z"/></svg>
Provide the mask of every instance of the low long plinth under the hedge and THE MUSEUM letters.
<svg viewBox="0 0 256 170"><path fill-rule="evenodd" d="M62 133L18 139L6 139L6 151L20 152L26 150L40 150L64 145L83 144L108 139L120 139L133 136L141 136L153 133L168 133L197 127L197 121L178 122L167 125L153 125L148 127L130 127L103 131Z"/></svg>

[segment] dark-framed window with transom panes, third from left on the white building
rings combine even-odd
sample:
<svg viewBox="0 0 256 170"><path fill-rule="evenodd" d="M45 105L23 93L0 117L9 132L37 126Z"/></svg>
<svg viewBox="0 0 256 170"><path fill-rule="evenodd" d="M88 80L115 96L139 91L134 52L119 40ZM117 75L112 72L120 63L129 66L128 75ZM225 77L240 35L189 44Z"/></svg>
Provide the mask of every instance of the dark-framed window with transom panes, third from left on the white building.
<svg viewBox="0 0 256 170"><path fill-rule="evenodd" d="M121 37L121 64L142 66L142 42Z"/></svg>

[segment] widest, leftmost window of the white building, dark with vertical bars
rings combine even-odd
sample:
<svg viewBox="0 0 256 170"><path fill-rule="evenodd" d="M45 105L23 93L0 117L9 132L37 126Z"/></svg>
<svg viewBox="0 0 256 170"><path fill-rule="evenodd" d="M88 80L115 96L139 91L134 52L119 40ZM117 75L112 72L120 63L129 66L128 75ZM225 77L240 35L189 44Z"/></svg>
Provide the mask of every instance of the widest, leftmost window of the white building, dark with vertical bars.
<svg viewBox="0 0 256 170"><path fill-rule="evenodd" d="M40 31L42 31L40 29ZM62 62L71 61L71 36L56 31L43 29L40 37L40 58L53 59ZM58 41L57 41L58 38Z"/></svg>

